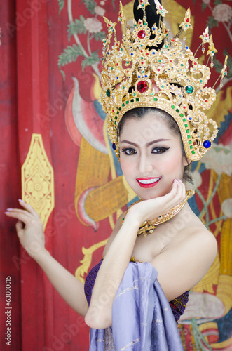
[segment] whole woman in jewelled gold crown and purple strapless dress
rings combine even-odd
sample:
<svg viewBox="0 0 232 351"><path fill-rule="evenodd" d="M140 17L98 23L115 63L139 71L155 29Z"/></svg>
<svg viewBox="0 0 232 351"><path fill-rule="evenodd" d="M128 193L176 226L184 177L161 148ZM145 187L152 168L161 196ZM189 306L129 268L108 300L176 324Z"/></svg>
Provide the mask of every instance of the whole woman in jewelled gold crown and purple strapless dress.
<svg viewBox="0 0 232 351"><path fill-rule="evenodd" d="M155 2L164 17L165 9ZM202 112L214 100L213 89L204 88L209 69L197 64L189 48L182 51L178 38L167 44L165 22L160 25L160 18L149 16L153 1L148 5L135 3L132 34L121 6L125 37L121 45L115 40L111 50L115 25L106 20L102 107L125 179L142 201L118 218L104 259L88 275L85 289L45 249L43 226L29 204L20 200L23 209L6 212L18 219L18 237L27 253L85 317L90 350L182 350L175 320L184 312L189 289L217 253L214 236L186 202L190 194L183 183L190 162L200 159L217 135L217 125ZM189 18L187 11L182 27L191 26Z"/></svg>

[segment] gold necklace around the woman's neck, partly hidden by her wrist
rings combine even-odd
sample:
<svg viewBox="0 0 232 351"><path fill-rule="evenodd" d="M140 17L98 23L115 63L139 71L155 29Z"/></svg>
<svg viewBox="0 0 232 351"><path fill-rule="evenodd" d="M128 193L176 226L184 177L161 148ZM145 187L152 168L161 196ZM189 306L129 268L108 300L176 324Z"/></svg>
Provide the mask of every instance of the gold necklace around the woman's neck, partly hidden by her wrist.
<svg viewBox="0 0 232 351"><path fill-rule="evenodd" d="M194 190L187 190L184 201L180 202L177 206L174 206L168 213L166 213L165 215L159 216L157 218L154 218L153 220L145 220L145 222L142 223L142 225L140 225L139 227L137 237L139 237L142 234L144 234L144 237L146 237L146 235L148 234L152 234L157 225L167 222L167 220L170 220L172 217L176 216L177 213L179 213L179 211L182 210L182 208L186 204L186 201L189 199L189 197L193 196L194 194L195 194ZM131 206L141 201L143 200L136 201L134 204L130 205L128 209ZM125 216L127 213L128 213L128 210L125 212ZM125 217L122 218L122 224L123 224L123 220L125 220Z"/></svg>

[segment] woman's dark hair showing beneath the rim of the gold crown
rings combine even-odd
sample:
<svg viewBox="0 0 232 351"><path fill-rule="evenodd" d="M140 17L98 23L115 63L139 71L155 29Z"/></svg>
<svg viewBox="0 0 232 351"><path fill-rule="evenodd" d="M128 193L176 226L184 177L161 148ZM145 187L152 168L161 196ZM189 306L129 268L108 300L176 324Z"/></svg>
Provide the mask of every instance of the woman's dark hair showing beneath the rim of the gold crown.
<svg viewBox="0 0 232 351"><path fill-rule="evenodd" d="M175 135L179 136L179 140L181 142L181 147L182 147L183 157L185 159L187 159L185 151L184 151L184 144L182 141L182 135L180 133L179 126L178 126L177 122L175 121L175 119L172 118L172 116L170 114L168 114L168 112L160 110L156 107L137 107L135 109L129 110L128 112L125 112L125 114L123 114L121 121L118 123L118 131L117 131L118 137L120 136L120 133L123 129L125 121L128 118L139 119L139 118L144 117L145 114L155 113L155 112L156 112L156 114L158 114L158 117L161 117L168 124L170 131L172 131L172 133L174 133ZM188 164L188 166L184 166L183 180L193 184L193 178L191 177L191 174L189 173L190 164Z"/></svg>

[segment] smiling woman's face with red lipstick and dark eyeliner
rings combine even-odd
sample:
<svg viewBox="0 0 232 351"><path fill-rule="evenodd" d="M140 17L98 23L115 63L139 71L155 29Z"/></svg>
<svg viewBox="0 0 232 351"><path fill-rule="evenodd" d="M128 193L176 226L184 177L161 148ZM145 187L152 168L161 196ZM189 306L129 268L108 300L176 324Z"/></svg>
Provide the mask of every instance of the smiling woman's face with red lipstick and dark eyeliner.
<svg viewBox="0 0 232 351"><path fill-rule="evenodd" d="M154 113L129 117L120 135L120 162L128 184L141 199L161 197L182 179L186 159L179 135Z"/></svg>

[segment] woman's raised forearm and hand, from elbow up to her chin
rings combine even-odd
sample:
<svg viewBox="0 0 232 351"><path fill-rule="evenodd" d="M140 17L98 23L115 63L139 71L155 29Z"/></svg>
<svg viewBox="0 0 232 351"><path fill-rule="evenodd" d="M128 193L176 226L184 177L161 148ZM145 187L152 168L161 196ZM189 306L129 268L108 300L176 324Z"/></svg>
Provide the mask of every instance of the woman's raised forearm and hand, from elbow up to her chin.
<svg viewBox="0 0 232 351"><path fill-rule="evenodd" d="M168 213L184 198L183 183L175 181L169 194L142 201L130 208L97 274L90 307L85 317L88 326L95 329L111 326L113 300L130 262L141 223Z"/></svg>

